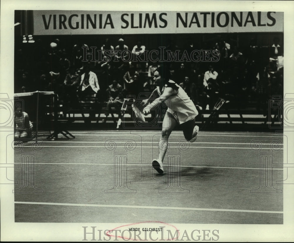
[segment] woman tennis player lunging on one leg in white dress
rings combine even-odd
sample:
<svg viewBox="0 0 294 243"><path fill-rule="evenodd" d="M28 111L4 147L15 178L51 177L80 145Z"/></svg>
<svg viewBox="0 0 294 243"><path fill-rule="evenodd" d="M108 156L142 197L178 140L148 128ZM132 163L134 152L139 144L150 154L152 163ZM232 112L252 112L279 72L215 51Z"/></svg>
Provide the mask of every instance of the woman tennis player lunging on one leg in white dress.
<svg viewBox="0 0 294 243"><path fill-rule="evenodd" d="M162 162L168 148L168 138L176 125L181 126L186 140L190 143L196 140L199 131L199 127L195 125L195 117L198 115L195 105L186 92L169 77L170 71L165 65L156 69L154 72L156 89L144 103L147 104L152 97L157 98L143 109L144 115L147 115L162 102L165 102L168 107L163 118L161 139L158 143L159 156L152 161L153 168L159 174L163 173Z"/></svg>

